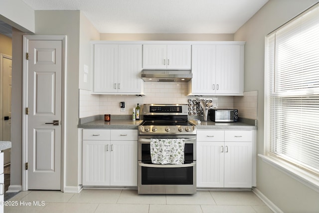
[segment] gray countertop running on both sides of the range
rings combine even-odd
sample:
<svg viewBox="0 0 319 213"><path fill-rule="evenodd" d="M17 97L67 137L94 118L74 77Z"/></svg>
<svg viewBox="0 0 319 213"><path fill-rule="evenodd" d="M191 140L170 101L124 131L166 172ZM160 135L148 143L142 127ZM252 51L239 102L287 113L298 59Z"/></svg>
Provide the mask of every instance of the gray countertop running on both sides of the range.
<svg viewBox="0 0 319 213"><path fill-rule="evenodd" d="M143 121L132 121L132 120L111 120L106 122L104 120L96 120L83 124L79 124L78 128L84 129L138 129L138 126ZM257 125L252 125L247 122L221 122L215 123L212 121L201 121L197 124L196 121L192 121L196 125L197 130L207 129L233 129L233 130L254 130L257 129Z"/></svg>

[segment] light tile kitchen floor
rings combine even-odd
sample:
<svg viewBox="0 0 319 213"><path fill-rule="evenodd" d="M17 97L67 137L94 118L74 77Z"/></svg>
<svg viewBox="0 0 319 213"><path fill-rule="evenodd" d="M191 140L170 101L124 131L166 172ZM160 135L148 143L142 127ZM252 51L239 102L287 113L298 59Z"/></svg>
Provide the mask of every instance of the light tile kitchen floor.
<svg viewBox="0 0 319 213"><path fill-rule="evenodd" d="M195 195L138 195L137 190L111 189L84 189L79 194L27 191L5 204L5 213L272 213L251 191Z"/></svg>

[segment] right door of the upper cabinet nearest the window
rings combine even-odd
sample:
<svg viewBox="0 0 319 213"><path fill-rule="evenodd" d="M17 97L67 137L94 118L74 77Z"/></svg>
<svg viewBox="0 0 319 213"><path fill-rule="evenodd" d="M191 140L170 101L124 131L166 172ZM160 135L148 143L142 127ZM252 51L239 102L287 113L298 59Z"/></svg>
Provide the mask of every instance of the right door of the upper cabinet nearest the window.
<svg viewBox="0 0 319 213"><path fill-rule="evenodd" d="M243 94L243 46L216 46L216 93Z"/></svg>

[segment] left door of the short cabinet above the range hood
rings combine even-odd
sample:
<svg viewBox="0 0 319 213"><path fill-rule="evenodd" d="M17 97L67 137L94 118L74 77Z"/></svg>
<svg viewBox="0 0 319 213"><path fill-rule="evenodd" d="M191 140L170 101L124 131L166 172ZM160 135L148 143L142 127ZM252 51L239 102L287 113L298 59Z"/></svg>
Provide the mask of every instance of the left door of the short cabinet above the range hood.
<svg viewBox="0 0 319 213"><path fill-rule="evenodd" d="M166 69L166 44L143 45L143 69Z"/></svg>

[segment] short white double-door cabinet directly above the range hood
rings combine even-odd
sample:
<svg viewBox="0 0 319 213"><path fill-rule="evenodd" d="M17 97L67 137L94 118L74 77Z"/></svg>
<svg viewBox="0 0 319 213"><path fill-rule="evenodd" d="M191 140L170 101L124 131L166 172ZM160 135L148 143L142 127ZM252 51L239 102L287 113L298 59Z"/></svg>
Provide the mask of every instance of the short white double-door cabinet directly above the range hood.
<svg viewBox="0 0 319 213"><path fill-rule="evenodd" d="M191 45L144 44L143 69L191 69Z"/></svg>

